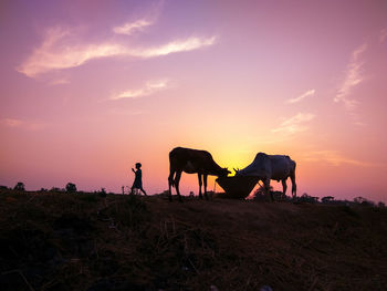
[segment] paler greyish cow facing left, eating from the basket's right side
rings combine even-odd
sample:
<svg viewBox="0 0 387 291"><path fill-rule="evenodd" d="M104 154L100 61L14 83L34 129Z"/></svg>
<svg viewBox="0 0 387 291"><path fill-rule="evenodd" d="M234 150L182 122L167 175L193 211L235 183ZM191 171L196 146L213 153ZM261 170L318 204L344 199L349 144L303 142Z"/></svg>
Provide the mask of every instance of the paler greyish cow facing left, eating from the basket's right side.
<svg viewBox="0 0 387 291"><path fill-rule="evenodd" d="M258 153L254 160L245 168L236 170L236 176L258 176L264 184L265 193L270 191L270 180L282 181L283 196L286 194L286 179L292 180L292 196L296 197L295 184L295 162L290 156L266 155ZM271 199L274 200L273 194L270 193Z"/></svg>

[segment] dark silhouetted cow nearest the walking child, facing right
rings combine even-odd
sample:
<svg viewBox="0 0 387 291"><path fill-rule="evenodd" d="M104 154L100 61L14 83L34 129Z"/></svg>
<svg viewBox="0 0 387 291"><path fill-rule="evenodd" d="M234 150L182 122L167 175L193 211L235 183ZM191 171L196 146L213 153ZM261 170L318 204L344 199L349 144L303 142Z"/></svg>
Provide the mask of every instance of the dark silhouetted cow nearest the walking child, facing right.
<svg viewBox="0 0 387 291"><path fill-rule="evenodd" d="M169 153L169 200L172 200L171 187L176 188L176 193L181 201L179 181L181 173L198 174L199 179L199 198L202 199L201 185L205 183L205 197L207 196L207 176L213 175L218 177L227 177L231 172L221 168L212 158L211 154L206 150L176 147ZM202 179L203 178L203 179Z"/></svg>

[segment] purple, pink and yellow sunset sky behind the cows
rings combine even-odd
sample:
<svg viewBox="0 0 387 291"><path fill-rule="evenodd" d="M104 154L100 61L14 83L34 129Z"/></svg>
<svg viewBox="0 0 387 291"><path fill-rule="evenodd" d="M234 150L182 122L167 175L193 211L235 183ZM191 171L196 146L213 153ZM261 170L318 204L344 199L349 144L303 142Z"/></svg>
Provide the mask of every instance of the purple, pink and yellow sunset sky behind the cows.
<svg viewBox="0 0 387 291"><path fill-rule="evenodd" d="M140 162L161 193L184 146L229 169L289 155L299 195L387 201L384 0L6 0L0 40L0 185L119 193Z"/></svg>

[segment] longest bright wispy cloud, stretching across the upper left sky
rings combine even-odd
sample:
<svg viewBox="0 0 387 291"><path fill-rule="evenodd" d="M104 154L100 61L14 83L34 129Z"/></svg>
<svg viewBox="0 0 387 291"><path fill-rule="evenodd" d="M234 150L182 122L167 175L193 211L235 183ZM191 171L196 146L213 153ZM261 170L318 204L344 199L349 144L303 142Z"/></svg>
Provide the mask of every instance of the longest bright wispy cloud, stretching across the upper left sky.
<svg viewBox="0 0 387 291"><path fill-rule="evenodd" d="M108 56L154 58L170 53L192 51L202 46L212 45L216 38L188 38L181 41L172 41L156 48L132 49L115 42L98 44L84 44L75 42L69 30L60 28L46 32L43 43L17 67L17 71L30 77L36 77L43 73L75 67L94 59Z"/></svg>

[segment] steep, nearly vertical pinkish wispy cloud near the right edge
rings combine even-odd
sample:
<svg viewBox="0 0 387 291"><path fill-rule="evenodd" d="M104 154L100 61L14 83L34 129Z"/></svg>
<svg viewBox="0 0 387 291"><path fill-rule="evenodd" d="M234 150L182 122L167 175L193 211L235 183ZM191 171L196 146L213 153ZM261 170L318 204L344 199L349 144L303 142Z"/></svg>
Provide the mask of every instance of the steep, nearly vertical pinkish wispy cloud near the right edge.
<svg viewBox="0 0 387 291"><path fill-rule="evenodd" d="M360 122L358 121L355 110L359 102L351 97L351 92L353 91L354 86L358 85L364 80L362 72L364 62L360 60L360 55L366 51L366 49L367 44L364 43L352 53L344 81L339 86L336 96L334 97L334 102L342 102L344 104L345 108L352 114L357 124L360 124Z"/></svg>

